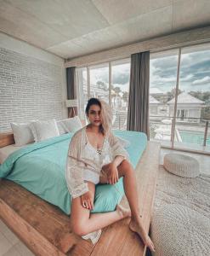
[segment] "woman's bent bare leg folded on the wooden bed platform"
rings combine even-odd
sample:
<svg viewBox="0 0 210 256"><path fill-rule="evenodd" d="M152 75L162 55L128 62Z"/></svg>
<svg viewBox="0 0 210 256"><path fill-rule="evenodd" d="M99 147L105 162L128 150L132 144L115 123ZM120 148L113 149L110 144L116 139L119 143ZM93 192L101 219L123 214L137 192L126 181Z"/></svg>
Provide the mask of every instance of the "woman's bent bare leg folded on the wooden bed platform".
<svg viewBox="0 0 210 256"><path fill-rule="evenodd" d="M88 182L88 188L94 197L94 183ZM114 212L90 213L88 209L82 207L80 197L73 199L71 202L71 227L79 236L102 229L129 215L129 212L122 211L120 207L117 207Z"/></svg>

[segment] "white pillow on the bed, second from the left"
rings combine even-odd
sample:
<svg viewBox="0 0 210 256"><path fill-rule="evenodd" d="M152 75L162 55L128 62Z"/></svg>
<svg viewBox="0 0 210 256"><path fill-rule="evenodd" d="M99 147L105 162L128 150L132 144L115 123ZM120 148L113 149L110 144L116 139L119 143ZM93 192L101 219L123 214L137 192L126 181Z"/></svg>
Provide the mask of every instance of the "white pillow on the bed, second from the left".
<svg viewBox="0 0 210 256"><path fill-rule="evenodd" d="M38 120L30 124L35 142L42 142L50 137L60 136L60 131L55 119Z"/></svg>

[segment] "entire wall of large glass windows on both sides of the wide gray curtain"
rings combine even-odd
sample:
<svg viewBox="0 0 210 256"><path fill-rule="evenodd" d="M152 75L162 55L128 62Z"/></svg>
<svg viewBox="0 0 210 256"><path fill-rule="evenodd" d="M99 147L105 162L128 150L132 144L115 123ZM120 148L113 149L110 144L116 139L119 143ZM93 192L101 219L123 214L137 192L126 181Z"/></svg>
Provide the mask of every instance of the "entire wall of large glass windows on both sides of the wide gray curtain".
<svg viewBox="0 0 210 256"><path fill-rule="evenodd" d="M205 144L210 150L209 67L210 44L150 54L151 140L201 150ZM130 59L77 68L81 119L88 97L99 97L111 105L113 128L126 130L129 78Z"/></svg>

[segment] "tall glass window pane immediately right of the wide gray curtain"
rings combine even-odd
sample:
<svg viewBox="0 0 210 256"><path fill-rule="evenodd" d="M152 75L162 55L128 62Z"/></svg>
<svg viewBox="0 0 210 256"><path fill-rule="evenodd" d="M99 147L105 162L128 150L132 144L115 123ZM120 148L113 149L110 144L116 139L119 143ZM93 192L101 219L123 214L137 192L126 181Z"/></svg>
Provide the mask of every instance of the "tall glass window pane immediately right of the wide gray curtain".
<svg viewBox="0 0 210 256"><path fill-rule="evenodd" d="M150 139L170 143L175 96L178 49L150 55Z"/></svg>

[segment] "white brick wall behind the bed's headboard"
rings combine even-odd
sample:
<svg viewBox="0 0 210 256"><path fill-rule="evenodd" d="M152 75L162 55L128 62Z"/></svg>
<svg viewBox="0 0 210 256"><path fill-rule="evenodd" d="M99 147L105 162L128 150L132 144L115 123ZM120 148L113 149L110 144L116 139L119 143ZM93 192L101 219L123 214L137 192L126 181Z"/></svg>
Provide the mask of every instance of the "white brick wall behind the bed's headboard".
<svg viewBox="0 0 210 256"><path fill-rule="evenodd" d="M0 132L12 121L65 118L64 80L58 63L0 48Z"/></svg>

